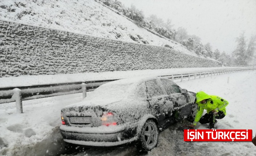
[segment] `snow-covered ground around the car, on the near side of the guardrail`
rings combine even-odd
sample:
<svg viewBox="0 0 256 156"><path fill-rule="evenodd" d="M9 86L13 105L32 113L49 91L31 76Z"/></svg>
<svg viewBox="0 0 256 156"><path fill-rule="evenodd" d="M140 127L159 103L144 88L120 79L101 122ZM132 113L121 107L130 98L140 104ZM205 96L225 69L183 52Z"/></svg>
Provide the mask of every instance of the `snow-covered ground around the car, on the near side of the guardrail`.
<svg viewBox="0 0 256 156"><path fill-rule="evenodd" d="M227 79L230 77L229 83ZM181 88L200 90L225 98L227 115L216 124L218 129L252 129L256 133L256 71L228 73L179 82ZM90 92L87 93L90 96ZM0 155L56 155L65 153L65 143L59 134L60 109L82 100L82 93L23 101L24 113L17 114L15 103L0 104ZM181 125L178 123L177 125ZM87 149L84 155L220 155L255 156L251 142L184 142L183 132L174 125L160 134L156 148L148 153L136 147L117 149ZM205 125L196 127L205 129ZM54 153L54 154L53 154Z"/></svg>

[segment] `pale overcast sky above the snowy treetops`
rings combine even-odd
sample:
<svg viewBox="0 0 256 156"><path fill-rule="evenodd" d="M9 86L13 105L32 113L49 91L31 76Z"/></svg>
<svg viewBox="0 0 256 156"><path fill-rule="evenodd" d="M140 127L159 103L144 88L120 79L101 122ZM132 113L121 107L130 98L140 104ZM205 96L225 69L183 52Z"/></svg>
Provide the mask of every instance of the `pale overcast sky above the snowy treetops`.
<svg viewBox="0 0 256 156"><path fill-rule="evenodd" d="M172 20L174 29L184 27L189 35L211 43L212 50L228 54L235 49L235 38L244 31L247 39L256 35L256 0L119 0L126 7L135 5L145 17L156 14Z"/></svg>

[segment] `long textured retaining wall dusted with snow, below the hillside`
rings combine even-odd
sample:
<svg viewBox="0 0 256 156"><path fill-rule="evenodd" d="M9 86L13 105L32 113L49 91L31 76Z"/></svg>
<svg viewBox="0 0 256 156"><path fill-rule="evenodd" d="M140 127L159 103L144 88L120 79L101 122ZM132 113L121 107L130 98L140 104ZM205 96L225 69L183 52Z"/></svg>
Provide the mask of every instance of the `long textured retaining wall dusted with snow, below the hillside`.
<svg viewBox="0 0 256 156"><path fill-rule="evenodd" d="M166 47L9 21L0 21L0 62L0 77L221 66Z"/></svg>

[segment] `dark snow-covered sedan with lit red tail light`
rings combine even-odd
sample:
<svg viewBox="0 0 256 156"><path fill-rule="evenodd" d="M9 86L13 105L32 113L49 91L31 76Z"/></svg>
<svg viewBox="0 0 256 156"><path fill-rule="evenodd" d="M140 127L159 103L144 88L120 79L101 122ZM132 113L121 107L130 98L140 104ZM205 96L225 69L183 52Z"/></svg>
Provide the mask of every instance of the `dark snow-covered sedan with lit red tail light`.
<svg viewBox="0 0 256 156"><path fill-rule="evenodd" d="M195 93L162 77L112 81L61 110L65 142L91 147L137 142L144 151L159 132L196 112Z"/></svg>

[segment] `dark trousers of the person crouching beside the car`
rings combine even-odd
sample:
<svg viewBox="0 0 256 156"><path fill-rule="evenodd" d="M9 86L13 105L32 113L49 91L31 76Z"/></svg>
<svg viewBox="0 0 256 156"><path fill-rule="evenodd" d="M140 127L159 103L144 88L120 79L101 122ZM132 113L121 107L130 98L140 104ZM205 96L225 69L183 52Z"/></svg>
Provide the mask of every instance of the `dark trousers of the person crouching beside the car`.
<svg viewBox="0 0 256 156"><path fill-rule="evenodd" d="M218 114L214 115L212 111L209 112L209 114L205 114L202 116L202 118L199 120L201 124L210 123L210 125L214 125L215 119L222 119L225 117L225 114L223 111L219 111Z"/></svg>

